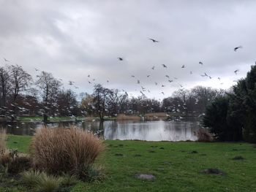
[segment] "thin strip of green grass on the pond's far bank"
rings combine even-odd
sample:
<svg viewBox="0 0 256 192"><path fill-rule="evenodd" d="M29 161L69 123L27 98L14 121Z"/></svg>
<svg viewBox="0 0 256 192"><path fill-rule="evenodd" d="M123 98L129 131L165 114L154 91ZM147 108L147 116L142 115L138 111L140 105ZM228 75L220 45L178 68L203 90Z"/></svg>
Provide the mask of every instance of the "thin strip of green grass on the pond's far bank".
<svg viewBox="0 0 256 192"><path fill-rule="evenodd" d="M20 117L18 118L19 121L21 122L34 122L34 121L42 121L43 118L38 116L38 117ZM49 122L59 122L59 121L64 121L64 120L75 120L75 118L70 118L70 117L48 117ZM84 117L77 117L77 120L84 120Z"/></svg>

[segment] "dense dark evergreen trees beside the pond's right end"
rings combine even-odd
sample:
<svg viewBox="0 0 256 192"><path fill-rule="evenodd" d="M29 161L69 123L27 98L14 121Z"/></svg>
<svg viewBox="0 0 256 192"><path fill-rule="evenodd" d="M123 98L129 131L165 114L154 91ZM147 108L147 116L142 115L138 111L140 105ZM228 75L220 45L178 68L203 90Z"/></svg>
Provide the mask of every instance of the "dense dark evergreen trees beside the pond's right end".
<svg viewBox="0 0 256 192"><path fill-rule="evenodd" d="M256 142L256 66L208 105L203 125L220 141Z"/></svg>

